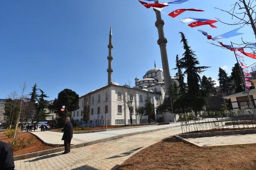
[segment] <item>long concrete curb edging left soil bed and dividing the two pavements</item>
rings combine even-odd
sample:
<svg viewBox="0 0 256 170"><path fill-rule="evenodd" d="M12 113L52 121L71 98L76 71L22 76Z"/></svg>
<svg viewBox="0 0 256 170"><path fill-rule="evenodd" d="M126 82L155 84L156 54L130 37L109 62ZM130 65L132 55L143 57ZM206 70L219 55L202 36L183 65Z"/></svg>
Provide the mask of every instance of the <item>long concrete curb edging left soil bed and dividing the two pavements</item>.
<svg viewBox="0 0 256 170"><path fill-rule="evenodd" d="M106 142L106 141L110 141L110 140L113 140L113 139L119 139L119 138L122 138L122 137L128 137L128 136L133 136L133 135L138 135L138 134L143 134L143 133L150 133L150 132L155 132L155 131L160 131L160 130L171 129L171 128L174 128L174 127L180 127L180 125L174 125L172 127L163 127L163 128L159 128L159 129L152 129L152 130L146 130L146 131L116 135L114 137L108 137L108 138L99 139L99 140L96 140L96 141L90 141L90 142L86 142L86 143L71 145L70 149L85 147L85 146L88 146L88 145L93 145L93 144L96 144L96 143ZM37 135L35 135L35 134L33 134L33 135L36 136L42 143L44 143L46 145L49 145L48 143L46 143L42 139L40 139ZM52 146L53 144L50 144L50 145ZM54 152L61 152L61 151L64 151L64 150L65 150L64 147L60 147L60 148L54 148L54 149L49 149L49 150L43 150L43 151L39 151L39 152L22 154L22 155L14 156L14 160L27 159L27 158L32 158L32 157L36 157L36 156L51 154L51 153L54 153Z"/></svg>

